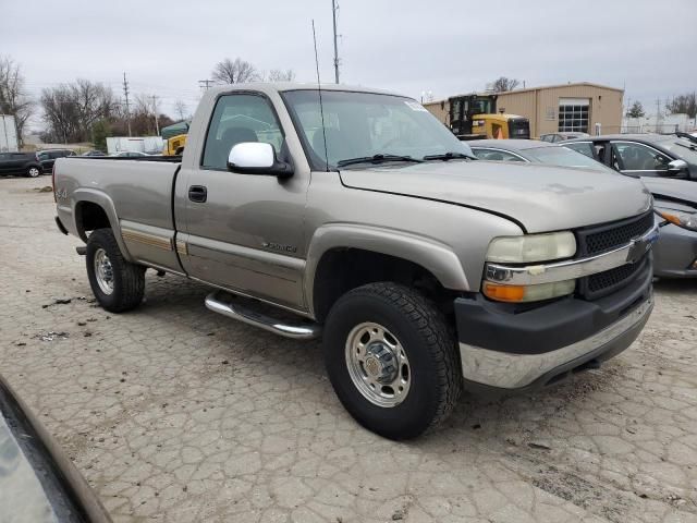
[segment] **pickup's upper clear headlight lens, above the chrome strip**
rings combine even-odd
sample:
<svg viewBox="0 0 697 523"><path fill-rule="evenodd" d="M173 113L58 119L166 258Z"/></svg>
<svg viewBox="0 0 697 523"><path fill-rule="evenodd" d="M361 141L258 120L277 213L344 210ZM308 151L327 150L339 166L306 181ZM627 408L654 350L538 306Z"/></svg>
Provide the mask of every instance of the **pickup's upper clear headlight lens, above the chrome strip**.
<svg viewBox="0 0 697 523"><path fill-rule="evenodd" d="M565 231L494 238L489 244L487 260L525 264L571 258L574 254L576 254L576 239L572 232Z"/></svg>

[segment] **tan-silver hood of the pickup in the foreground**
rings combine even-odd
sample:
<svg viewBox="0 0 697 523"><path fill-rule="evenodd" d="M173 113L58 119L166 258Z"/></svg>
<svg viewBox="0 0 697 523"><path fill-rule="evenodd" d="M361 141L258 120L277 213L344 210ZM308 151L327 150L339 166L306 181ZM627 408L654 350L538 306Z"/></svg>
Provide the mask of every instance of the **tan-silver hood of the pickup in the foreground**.
<svg viewBox="0 0 697 523"><path fill-rule="evenodd" d="M639 180L537 163L430 161L346 169L340 175L347 187L473 207L510 218L527 232L620 220L650 205Z"/></svg>

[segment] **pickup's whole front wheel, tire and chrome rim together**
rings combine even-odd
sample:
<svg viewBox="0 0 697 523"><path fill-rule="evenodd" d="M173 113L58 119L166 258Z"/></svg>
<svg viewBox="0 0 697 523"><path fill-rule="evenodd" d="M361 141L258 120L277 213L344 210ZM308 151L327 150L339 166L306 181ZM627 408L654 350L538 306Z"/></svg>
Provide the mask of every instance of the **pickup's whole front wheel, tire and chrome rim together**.
<svg viewBox="0 0 697 523"><path fill-rule="evenodd" d="M462 390L455 343L420 293L391 282L343 295L325 326L329 378L364 427L408 439L437 426Z"/></svg>

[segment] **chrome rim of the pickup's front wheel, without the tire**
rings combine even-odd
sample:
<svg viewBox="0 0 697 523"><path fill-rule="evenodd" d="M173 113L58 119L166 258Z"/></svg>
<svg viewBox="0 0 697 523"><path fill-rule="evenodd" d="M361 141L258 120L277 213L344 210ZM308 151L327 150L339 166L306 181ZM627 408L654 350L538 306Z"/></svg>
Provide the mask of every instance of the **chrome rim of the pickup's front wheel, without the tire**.
<svg viewBox="0 0 697 523"><path fill-rule="evenodd" d="M370 403L392 408L409 392L412 368L392 332L375 323L354 327L346 339L346 367L353 385Z"/></svg>

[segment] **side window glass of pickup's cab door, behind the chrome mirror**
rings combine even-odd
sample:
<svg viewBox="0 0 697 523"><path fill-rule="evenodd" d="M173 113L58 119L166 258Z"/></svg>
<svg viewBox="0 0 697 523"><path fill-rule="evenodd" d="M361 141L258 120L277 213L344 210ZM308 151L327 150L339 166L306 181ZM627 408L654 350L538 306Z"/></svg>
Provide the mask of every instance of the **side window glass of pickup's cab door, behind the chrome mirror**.
<svg viewBox="0 0 697 523"><path fill-rule="evenodd" d="M204 146L204 169L227 169L230 150L244 142L271 144L277 154L283 131L269 100L260 95L221 96L210 119Z"/></svg>

